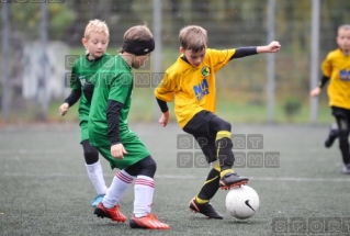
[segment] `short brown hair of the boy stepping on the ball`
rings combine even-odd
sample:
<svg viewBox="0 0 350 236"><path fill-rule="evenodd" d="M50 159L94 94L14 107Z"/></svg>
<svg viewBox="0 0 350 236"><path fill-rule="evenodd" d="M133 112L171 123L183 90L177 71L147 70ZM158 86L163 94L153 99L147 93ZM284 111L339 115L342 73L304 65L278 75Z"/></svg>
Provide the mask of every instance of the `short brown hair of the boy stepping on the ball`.
<svg viewBox="0 0 350 236"><path fill-rule="evenodd" d="M207 47L206 31L197 25L188 25L180 31L180 45L183 49L199 53Z"/></svg>

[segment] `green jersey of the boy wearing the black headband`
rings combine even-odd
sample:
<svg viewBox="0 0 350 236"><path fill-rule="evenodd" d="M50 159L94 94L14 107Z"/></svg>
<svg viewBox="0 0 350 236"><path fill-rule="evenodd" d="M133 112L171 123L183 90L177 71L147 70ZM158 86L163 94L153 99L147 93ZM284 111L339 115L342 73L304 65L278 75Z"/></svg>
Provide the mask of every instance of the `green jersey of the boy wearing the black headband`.
<svg viewBox="0 0 350 236"><path fill-rule="evenodd" d="M90 143L93 146L110 146L106 121L109 100L123 104L118 121L121 137L128 132L127 115L133 92L131 68L120 55L116 55L106 61L90 81L94 85L89 115Z"/></svg>

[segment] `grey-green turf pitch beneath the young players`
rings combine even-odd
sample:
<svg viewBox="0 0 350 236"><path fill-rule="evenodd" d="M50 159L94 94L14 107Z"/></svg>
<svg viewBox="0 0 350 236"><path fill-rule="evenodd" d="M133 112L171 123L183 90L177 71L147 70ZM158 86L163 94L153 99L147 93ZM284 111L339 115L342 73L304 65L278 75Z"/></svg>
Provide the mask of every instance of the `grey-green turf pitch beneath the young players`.
<svg viewBox="0 0 350 236"><path fill-rule="evenodd" d="M210 169L177 165L177 135L183 134L177 125L163 128L156 123L132 123L131 127L157 161L153 212L170 225L170 231L131 229L127 222L97 218L89 205L95 192L78 144L78 125L43 124L0 128L0 235L350 235L350 176L341 173L338 143L329 149L323 146L326 125L233 124L235 134L263 135L259 151L280 154L279 168L236 168L250 178L249 186L260 196L258 213L246 221L228 215L224 203L227 192L223 190L212 200L223 221L189 211L188 203ZM101 161L110 184L116 170L103 158ZM133 188L121 204L123 213L131 216ZM290 224L284 227L275 224L276 220ZM315 226L315 221L321 224Z"/></svg>

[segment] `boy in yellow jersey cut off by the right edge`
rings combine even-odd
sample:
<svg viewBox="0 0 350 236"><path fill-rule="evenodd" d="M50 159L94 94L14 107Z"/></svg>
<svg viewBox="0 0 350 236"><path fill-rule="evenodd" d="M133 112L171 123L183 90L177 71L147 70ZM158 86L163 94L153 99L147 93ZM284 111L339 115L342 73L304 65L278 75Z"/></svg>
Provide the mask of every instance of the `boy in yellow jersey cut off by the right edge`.
<svg viewBox="0 0 350 236"><path fill-rule="evenodd" d="M350 121L350 25L338 27L338 49L330 52L321 64L323 78L311 97L317 97L330 79L327 89L329 106L338 125L339 148L345 167L343 173L350 173L349 121ZM331 131L332 132L332 131ZM332 134L329 134L329 137ZM336 136L336 135L335 135ZM328 138L329 139L329 138Z"/></svg>

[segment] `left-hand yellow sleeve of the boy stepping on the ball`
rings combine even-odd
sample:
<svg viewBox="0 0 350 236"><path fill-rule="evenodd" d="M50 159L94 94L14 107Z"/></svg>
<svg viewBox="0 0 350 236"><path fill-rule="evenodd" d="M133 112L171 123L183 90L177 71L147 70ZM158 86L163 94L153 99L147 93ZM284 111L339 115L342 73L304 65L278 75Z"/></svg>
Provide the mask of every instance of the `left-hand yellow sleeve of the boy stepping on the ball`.
<svg viewBox="0 0 350 236"><path fill-rule="evenodd" d="M170 72L166 71L160 83L155 89L155 95L166 102L171 102L174 97L176 78Z"/></svg>

